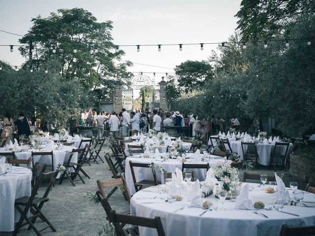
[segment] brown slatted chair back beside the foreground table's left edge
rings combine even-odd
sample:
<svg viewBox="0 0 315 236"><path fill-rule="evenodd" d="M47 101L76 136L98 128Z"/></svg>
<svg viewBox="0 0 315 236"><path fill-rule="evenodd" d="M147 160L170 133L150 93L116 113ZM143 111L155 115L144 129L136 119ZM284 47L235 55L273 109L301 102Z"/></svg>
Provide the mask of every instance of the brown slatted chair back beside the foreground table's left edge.
<svg viewBox="0 0 315 236"><path fill-rule="evenodd" d="M119 185L122 185L125 191L127 200L128 202L130 202L131 196L130 196L129 189L127 187L124 176L121 176L120 178L117 178L117 179L107 180L107 181L97 180L96 183L97 183L98 191L101 193L102 197L106 198L107 200L119 188ZM114 188L106 195L104 192L104 188L110 188L110 187L114 187Z"/></svg>

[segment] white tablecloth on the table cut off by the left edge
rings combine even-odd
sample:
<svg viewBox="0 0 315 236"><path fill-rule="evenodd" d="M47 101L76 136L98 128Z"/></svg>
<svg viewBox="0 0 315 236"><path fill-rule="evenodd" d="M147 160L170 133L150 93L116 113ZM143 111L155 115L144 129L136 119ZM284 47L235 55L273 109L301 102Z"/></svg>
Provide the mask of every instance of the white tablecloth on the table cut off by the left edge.
<svg viewBox="0 0 315 236"><path fill-rule="evenodd" d="M14 201L23 196L31 196L31 180L31 170L15 166L10 175L0 176L0 231L14 230L14 222L20 219Z"/></svg>

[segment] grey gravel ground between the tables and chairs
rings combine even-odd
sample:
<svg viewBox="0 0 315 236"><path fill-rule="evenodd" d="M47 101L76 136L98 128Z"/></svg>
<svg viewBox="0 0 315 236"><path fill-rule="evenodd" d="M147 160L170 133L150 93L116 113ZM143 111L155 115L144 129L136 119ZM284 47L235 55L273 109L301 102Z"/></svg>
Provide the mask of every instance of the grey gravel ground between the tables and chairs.
<svg viewBox="0 0 315 236"><path fill-rule="evenodd" d="M50 229L42 232L43 236L97 236L99 230L105 223L106 213L100 204L95 205L87 197L84 197L86 192L90 191L95 193L97 190L96 180L110 180L111 172L107 163L99 165L92 163L91 166L85 165L83 169L91 177L88 179L84 177L86 184L82 182L75 182L76 186L72 186L70 181L65 179L62 185L59 185L59 180L56 182L55 187L49 194L49 202L44 204L43 212L51 221L57 232L54 233ZM259 170L253 171L254 173L273 174L274 171L268 171L268 168L261 167ZM240 171L240 179L243 177L244 171ZM303 189L306 183L292 178L289 172L284 173L284 183L289 185L290 181L298 181L299 189ZM259 182L259 181L258 181ZM42 195L46 188L40 188L38 194ZM118 212L129 210L129 204L125 201L123 195L116 191L110 197L109 202L113 209ZM43 228L46 224L41 220L37 220L35 226L37 229ZM1 236L10 236L11 233L0 233ZM33 236L35 233L31 230L28 231L27 227L23 227L20 231L21 236Z"/></svg>

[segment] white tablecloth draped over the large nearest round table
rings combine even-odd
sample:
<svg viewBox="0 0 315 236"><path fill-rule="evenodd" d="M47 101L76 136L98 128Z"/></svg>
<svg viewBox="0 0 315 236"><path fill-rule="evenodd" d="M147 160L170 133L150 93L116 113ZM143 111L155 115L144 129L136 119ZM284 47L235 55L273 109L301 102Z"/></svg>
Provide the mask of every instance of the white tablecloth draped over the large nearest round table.
<svg viewBox="0 0 315 236"><path fill-rule="evenodd" d="M148 192L150 189L154 192ZM268 196L260 188L252 190L250 195L256 200L259 199L267 203L274 197L274 194ZM276 210L259 211L269 217L265 218L252 213L252 210L235 209L235 203L228 200L224 201L224 208L227 210L208 211L199 216L204 211L202 208L186 207L174 213L175 209L181 208L182 202L170 204L158 198L137 199L143 197L153 198L156 196L160 196L157 193L157 187L150 187L145 189L145 191L137 192L131 198L130 213L131 215L148 218L159 216L166 236L279 236L283 224L287 224L289 227L315 225L314 208L304 207L301 203L297 206L286 205L283 208L283 211L295 213L300 216L293 216ZM208 197L208 199L216 201L213 195ZM304 194L304 201L315 201L315 195ZM144 202L159 203L143 204ZM184 203L188 206L187 197L184 197ZM265 206L270 207L271 205L267 203ZM220 203L219 207L221 207ZM158 235L156 229L139 227L139 230L140 236Z"/></svg>

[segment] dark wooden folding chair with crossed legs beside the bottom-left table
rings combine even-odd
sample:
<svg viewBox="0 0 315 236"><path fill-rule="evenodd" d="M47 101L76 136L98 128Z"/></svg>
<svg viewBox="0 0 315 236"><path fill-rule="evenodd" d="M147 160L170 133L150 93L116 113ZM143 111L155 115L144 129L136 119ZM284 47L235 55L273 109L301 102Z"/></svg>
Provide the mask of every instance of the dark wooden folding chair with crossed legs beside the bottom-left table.
<svg viewBox="0 0 315 236"><path fill-rule="evenodd" d="M48 221L46 216L43 214L41 211L43 205L45 202L47 202L48 199L48 194L56 180L56 177L58 175L58 171L54 172L49 172L49 173L41 173L40 176L38 177L36 184L34 188L32 189L32 194L31 197L29 196L24 196L21 198L18 198L15 200L14 207L20 212L21 217L19 222L15 225L14 232L12 236L16 236L20 230L21 227L25 225L29 225L28 230L32 229L37 236L40 236L40 232L47 228L51 228L53 232L56 232L56 229L52 226L52 224ZM48 187L42 197L36 197L38 188L40 184L42 183L43 180L45 179L50 179L50 182L48 184ZM28 216L28 212L32 213L32 216ZM37 230L37 228L34 226L35 221L37 218L40 218L43 222L45 222L48 226L41 229ZM24 220L26 223L23 224Z"/></svg>

